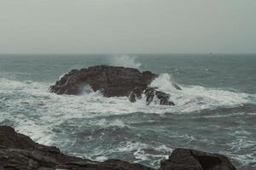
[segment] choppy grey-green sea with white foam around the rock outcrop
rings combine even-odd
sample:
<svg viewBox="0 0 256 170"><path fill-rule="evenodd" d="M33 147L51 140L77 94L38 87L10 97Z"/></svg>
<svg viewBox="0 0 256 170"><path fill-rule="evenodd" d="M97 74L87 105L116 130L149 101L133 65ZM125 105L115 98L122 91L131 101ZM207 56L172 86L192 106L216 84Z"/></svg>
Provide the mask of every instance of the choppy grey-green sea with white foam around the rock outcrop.
<svg viewBox="0 0 256 170"><path fill-rule="evenodd" d="M73 68L109 64L160 74L152 82L175 106L127 98L50 94ZM0 55L0 124L38 143L102 161L159 167L178 147L229 156L256 169L256 55ZM183 88L172 88L176 82Z"/></svg>

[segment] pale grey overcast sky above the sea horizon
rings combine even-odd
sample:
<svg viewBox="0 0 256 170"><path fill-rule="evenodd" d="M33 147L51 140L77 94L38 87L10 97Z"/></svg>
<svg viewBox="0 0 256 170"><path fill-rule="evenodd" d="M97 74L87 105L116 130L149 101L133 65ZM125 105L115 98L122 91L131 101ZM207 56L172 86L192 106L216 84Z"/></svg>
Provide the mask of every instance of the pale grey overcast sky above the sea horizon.
<svg viewBox="0 0 256 170"><path fill-rule="evenodd" d="M0 54L256 53L256 0L0 0Z"/></svg>

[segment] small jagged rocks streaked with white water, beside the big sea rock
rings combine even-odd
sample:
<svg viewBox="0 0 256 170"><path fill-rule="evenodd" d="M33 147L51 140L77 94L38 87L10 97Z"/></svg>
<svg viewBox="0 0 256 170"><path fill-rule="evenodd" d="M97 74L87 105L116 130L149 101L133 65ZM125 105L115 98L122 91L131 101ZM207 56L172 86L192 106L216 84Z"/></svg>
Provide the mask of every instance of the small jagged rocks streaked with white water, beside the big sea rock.
<svg viewBox="0 0 256 170"><path fill-rule="evenodd" d="M166 94L157 90L157 88L146 88L142 90L140 88L135 88L130 96L129 100L131 102L136 102L137 99L142 99L142 95L145 94L147 105L153 102L154 98L159 100L160 105L174 105L172 101L169 101L170 94Z"/></svg>

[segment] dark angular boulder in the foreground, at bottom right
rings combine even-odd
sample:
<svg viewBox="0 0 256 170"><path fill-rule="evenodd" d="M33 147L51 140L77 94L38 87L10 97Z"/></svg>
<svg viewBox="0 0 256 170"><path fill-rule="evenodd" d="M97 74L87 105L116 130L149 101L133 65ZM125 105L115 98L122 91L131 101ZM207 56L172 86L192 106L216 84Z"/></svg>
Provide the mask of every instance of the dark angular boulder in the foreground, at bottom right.
<svg viewBox="0 0 256 170"><path fill-rule="evenodd" d="M162 161L160 170L236 170L226 156L199 150L177 149Z"/></svg>

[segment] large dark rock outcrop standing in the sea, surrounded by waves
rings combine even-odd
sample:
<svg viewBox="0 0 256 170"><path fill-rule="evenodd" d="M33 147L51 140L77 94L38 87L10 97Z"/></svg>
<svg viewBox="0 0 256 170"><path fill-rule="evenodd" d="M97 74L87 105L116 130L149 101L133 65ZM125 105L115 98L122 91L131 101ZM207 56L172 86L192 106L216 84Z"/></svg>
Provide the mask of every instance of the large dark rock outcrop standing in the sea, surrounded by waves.
<svg viewBox="0 0 256 170"><path fill-rule="evenodd" d="M55 94L81 94L83 88L89 85L93 91L100 90L106 97L128 97L131 94L130 101L135 102L139 98L135 99L133 94L138 89L141 94L146 94L147 105L153 101L154 96L160 99L160 105L174 105L173 102L169 102L170 94L160 92L156 88L148 88L157 76L150 71L141 72L133 68L97 65L70 71L49 90ZM176 84L173 86L181 89Z"/></svg>

